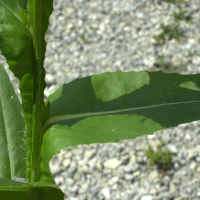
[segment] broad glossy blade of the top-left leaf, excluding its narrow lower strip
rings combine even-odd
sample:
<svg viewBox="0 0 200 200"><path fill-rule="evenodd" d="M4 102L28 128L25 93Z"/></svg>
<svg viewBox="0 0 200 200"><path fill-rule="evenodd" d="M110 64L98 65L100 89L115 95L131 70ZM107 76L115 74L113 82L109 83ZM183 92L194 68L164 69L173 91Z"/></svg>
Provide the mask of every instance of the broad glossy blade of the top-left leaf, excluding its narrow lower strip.
<svg viewBox="0 0 200 200"><path fill-rule="evenodd" d="M33 75L36 64L32 36L21 15L25 8L24 0L0 0L0 49L19 80Z"/></svg>

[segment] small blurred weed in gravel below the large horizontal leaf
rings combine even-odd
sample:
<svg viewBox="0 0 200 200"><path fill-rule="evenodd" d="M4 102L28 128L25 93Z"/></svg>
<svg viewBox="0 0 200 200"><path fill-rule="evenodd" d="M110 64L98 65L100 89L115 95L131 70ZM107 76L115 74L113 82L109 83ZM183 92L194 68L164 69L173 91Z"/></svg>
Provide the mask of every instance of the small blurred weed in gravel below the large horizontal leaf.
<svg viewBox="0 0 200 200"><path fill-rule="evenodd" d="M160 139L160 145L158 146L157 152L154 152L150 145L144 152L149 157L152 166L158 165L160 170L167 170L171 165L171 151L169 149L162 151L163 144L164 141Z"/></svg>

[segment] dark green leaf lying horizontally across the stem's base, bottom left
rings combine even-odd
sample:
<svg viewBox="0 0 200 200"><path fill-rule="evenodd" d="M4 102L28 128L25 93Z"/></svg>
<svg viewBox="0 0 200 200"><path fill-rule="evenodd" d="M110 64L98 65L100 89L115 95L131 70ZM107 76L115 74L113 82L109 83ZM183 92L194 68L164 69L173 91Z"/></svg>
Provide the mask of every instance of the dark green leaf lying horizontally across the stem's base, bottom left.
<svg viewBox="0 0 200 200"><path fill-rule="evenodd" d="M63 200L62 191L52 184L21 183L0 178L0 196L6 200Z"/></svg>

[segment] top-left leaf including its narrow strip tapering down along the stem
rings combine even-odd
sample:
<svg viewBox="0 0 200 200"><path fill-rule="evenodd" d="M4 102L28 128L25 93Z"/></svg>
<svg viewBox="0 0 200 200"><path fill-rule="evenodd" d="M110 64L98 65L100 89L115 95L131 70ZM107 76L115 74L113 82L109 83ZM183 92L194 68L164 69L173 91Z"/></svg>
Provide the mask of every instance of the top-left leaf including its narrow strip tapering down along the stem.
<svg viewBox="0 0 200 200"><path fill-rule="evenodd" d="M26 16L27 1L0 0L0 49L9 69L20 81L27 130L27 160L32 151L32 107L36 101L37 60L30 23ZM31 162L27 162L27 174Z"/></svg>

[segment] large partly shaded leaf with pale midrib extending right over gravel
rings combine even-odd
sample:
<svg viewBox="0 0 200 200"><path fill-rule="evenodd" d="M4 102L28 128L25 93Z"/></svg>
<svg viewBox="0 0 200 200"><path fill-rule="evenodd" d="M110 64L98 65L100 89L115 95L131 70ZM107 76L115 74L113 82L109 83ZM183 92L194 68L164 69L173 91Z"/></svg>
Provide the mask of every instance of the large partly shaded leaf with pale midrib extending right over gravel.
<svg viewBox="0 0 200 200"><path fill-rule="evenodd" d="M53 181L48 164L63 148L135 139L199 120L200 74L106 72L63 85L48 102L43 181Z"/></svg>

